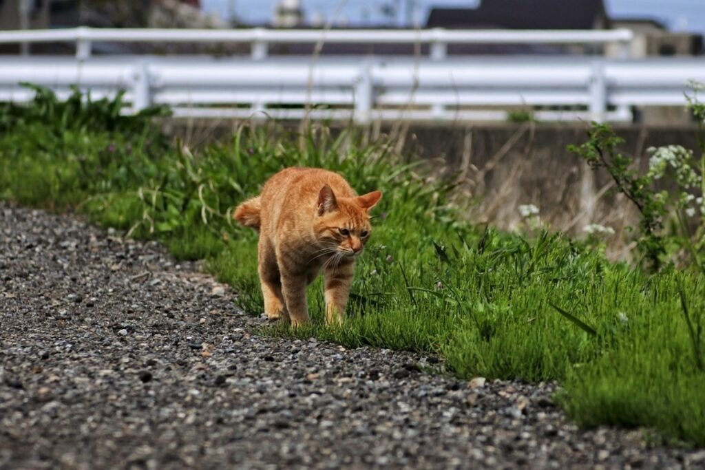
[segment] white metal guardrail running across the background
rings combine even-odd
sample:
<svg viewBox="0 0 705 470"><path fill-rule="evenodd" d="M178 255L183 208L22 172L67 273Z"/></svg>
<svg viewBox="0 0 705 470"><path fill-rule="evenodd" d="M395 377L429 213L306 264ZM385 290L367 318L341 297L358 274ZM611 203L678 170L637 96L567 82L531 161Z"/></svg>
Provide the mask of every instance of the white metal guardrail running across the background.
<svg viewBox="0 0 705 470"><path fill-rule="evenodd" d="M0 56L0 101L28 101L20 82L71 86L94 98L125 89L127 111L171 106L175 116L505 119L506 109L539 120L631 120L632 106L681 106L687 80L705 82L702 58L447 56L447 44L541 43L628 46L631 32L448 30L29 30L0 43L75 42L77 54ZM429 56L274 56L274 43L430 44ZM91 54L92 42L245 42L250 57ZM502 111L499 108L504 108Z"/></svg>

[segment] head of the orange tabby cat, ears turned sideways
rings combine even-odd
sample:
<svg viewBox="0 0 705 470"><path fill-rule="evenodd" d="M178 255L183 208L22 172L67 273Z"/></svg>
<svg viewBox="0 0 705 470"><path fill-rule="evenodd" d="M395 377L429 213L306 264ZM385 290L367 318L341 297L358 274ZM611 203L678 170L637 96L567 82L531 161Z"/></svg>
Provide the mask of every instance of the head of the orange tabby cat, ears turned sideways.
<svg viewBox="0 0 705 470"><path fill-rule="evenodd" d="M357 256L372 233L369 210L381 197L379 191L357 197L336 197L331 187L321 187L314 218L314 236L333 253Z"/></svg>

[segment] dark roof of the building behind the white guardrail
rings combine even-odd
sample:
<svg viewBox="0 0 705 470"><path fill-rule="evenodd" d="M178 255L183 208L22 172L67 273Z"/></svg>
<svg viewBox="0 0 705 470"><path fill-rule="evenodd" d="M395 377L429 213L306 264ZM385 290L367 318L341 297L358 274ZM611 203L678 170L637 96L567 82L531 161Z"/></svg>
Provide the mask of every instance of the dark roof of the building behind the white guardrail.
<svg viewBox="0 0 705 470"><path fill-rule="evenodd" d="M600 18L602 0L483 0L477 8L432 8L427 27L591 30Z"/></svg>

